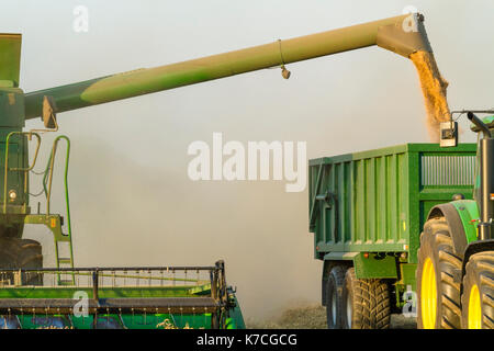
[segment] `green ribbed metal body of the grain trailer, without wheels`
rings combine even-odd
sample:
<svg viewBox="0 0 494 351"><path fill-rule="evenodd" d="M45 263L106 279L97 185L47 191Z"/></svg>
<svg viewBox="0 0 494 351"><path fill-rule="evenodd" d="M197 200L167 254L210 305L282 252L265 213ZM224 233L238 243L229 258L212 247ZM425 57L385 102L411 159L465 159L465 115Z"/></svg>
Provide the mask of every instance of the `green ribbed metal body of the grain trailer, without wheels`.
<svg viewBox="0 0 494 351"><path fill-rule="evenodd" d="M352 260L359 278L397 279L396 263L417 263L430 208L459 193L472 199L475 151L475 144L406 144L311 160L315 257ZM467 220L478 218L473 201L454 204Z"/></svg>

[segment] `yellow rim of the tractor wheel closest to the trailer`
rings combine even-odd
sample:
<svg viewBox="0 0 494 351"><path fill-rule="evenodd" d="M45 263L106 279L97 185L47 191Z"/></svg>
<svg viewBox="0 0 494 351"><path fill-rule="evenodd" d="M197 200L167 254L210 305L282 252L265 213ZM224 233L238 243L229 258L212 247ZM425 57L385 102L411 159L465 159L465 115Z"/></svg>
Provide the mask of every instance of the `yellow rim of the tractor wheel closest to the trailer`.
<svg viewBox="0 0 494 351"><path fill-rule="evenodd" d="M433 260L430 260L430 258L427 258L424 262L420 287L423 325L425 329L434 329L436 327L437 288L436 272L434 270Z"/></svg>

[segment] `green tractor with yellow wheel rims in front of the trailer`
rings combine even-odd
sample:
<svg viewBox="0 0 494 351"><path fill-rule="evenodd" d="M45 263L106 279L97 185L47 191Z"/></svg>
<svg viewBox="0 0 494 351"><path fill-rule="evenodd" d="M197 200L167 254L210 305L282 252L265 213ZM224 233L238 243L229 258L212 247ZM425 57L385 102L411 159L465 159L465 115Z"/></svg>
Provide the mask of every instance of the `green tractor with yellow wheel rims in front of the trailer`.
<svg viewBox="0 0 494 351"><path fill-rule="evenodd" d="M474 200L458 194L427 216L416 273L419 328L494 329L494 116L467 114L479 134Z"/></svg>

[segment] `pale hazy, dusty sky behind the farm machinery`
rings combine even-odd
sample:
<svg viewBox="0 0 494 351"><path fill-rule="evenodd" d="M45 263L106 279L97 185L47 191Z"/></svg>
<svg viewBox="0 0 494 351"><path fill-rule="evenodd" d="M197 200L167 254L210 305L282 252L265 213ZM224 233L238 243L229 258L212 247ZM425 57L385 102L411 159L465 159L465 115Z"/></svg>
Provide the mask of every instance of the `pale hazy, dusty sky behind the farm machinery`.
<svg viewBox="0 0 494 351"><path fill-rule="evenodd" d="M450 107L494 106L491 0L0 4L0 32L23 34L26 92L397 15L411 4L425 14L450 82ZM72 30L78 4L89 9L88 33ZM307 192L285 193L284 182L273 181L192 182L188 145L211 143L213 132L222 132L243 143L303 140L314 158L427 143L425 109L412 63L378 47L289 69L290 80L278 69L262 70L60 114L60 131L72 139L77 264L211 264L223 258L247 316L318 302L322 264L307 233ZM460 137L473 140L468 132ZM49 258L46 234L26 236L42 240Z"/></svg>

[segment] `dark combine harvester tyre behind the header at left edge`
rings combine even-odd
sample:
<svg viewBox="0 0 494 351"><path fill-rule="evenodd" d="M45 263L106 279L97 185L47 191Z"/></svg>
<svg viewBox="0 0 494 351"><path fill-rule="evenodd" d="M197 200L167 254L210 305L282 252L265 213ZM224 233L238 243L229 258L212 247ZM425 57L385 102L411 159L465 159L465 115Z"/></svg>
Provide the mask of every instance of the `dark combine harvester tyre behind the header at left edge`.
<svg viewBox="0 0 494 351"><path fill-rule="evenodd" d="M42 246L31 239L2 238L0 239L0 271L1 269L43 268ZM14 282L14 274L1 272L0 280L10 284ZM24 272L21 276L23 285L43 285L43 273Z"/></svg>

